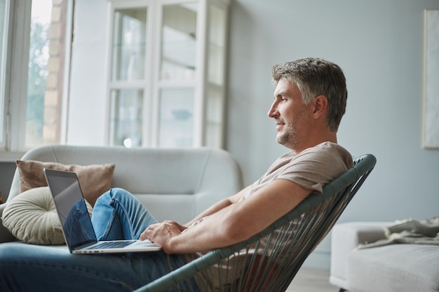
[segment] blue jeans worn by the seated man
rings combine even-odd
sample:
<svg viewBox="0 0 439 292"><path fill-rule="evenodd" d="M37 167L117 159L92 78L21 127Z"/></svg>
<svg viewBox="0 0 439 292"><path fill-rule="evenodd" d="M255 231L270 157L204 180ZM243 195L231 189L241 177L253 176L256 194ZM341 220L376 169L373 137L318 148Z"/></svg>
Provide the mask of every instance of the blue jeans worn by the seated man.
<svg viewBox="0 0 439 292"><path fill-rule="evenodd" d="M138 239L156 219L128 191L113 188L97 200L98 239ZM0 244L0 291L133 291L184 265L163 251L124 255L74 255L65 248Z"/></svg>

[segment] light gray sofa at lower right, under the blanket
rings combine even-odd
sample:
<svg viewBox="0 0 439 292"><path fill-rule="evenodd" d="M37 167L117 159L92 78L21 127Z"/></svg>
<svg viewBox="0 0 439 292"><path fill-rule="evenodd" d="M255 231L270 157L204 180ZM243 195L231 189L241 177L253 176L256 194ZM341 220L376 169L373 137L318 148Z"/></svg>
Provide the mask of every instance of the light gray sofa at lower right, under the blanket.
<svg viewBox="0 0 439 292"><path fill-rule="evenodd" d="M439 245L386 242L395 222L339 223L332 229L330 283L351 292L438 292Z"/></svg>

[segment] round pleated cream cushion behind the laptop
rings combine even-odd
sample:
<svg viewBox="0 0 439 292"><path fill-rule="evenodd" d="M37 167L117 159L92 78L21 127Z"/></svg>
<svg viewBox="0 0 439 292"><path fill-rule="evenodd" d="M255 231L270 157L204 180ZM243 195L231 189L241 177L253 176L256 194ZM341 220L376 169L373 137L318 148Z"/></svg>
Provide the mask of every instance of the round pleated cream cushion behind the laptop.
<svg viewBox="0 0 439 292"><path fill-rule="evenodd" d="M91 216L92 207L86 202ZM6 205L3 225L19 240L32 244L64 244L60 218L48 186L31 188Z"/></svg>

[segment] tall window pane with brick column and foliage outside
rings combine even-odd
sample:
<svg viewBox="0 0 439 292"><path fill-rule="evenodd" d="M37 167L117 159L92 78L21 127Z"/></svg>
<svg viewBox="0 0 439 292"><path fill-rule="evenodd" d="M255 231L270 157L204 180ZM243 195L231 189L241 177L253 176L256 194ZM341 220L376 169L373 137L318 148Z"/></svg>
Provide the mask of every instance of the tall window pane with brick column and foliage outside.
<svg viewBox="0 0 439 292"><path fill-rule="evenodd" d="M26 148L60 141L65 2L32 0Z"/></svg>

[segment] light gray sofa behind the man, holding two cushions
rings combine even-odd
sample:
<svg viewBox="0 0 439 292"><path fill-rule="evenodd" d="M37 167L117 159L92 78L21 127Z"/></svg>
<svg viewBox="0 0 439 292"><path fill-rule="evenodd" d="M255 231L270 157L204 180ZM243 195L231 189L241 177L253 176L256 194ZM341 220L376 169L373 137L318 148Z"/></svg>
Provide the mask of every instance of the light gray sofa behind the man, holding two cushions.
<svg viewBox="0 0 439 292"><path fill-rule="evenodd" d="M212 148L123 148L105 146L42 146L21 160L59 162L65 165L114 163L112 186L125 188L147 206L158 221L186 223L214 202L243 188L236 160ZM19 195L19 172L0 216ZM0 225L0 242L15 241Z"/></svg>

